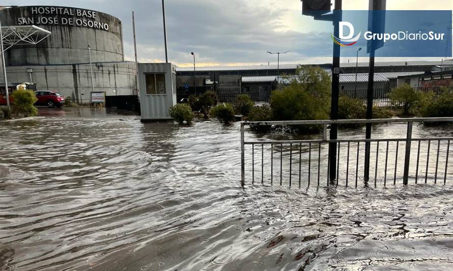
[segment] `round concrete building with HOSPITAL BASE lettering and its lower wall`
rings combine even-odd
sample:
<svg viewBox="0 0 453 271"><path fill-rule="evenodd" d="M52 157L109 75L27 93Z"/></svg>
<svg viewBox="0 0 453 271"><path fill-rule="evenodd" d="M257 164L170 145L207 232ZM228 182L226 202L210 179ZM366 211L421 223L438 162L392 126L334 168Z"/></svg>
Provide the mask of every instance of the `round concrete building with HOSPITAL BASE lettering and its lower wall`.
<svg viewBox="0 0 453 271"><path fill-rule="evenodd" d="M51 32L36 45L6 51L8 82L32 80L38 89L56 89L77 103L89 103L92 90L105 92L111 104L138 102L135 63L124 61L120 19L73 7L21 6L3 8L0 20L2 26L36 25Z"/></svg>

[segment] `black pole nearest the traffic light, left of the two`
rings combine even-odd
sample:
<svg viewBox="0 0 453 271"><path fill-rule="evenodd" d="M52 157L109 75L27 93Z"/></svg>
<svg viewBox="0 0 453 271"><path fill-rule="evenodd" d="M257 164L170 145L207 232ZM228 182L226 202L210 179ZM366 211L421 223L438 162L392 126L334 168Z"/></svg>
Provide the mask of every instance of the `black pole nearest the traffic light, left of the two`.
<svg viewBox="0 0 453 271"><path fill-rule="evenodd" d="M333 19L333 35L338 37L339 33L339 21L341 21L341 9L342 9L342 0L335 0L335 10L338 10L337 13L334 12ZM339 96L339 64L340 64L340 46L333 44L333 61L332 61L332 99L331 99L331 109L330 109L330 119L338 119L338 96ZM338 134L338 127L336 124L330 126L330 139L336 140ZM336 143L329 143L329 179L330 183L333 184L336 178Z"/></svg>

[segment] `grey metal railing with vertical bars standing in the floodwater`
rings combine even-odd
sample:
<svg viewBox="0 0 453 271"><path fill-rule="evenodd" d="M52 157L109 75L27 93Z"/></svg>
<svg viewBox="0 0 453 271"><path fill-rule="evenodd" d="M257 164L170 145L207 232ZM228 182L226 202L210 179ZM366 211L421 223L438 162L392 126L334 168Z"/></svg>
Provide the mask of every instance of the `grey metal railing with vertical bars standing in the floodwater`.
<svg viewBox="0 0 453 271"><path fill-rule="evenodd" d="M249 183L294 186L365 185L410 183L445 184L453 137L412 138L413 123L453 122L453 117L357 119L338 121L289 121L241 123L241 179ZM328 126L366 123L405 123L404 138L327 139ZM246 126L321 125L322 138L314 140L246 141ZM336 178L329 179L329 144L337 144ZM365 144L370 144L369 176L364 174ZM246 149L247 146L247 149ZM251 149L248 148L251 146ZM258 146L258 147L257 147ZM246 157L248 158L246 160ZM247 169L247 170L246 170Z"/></svg>

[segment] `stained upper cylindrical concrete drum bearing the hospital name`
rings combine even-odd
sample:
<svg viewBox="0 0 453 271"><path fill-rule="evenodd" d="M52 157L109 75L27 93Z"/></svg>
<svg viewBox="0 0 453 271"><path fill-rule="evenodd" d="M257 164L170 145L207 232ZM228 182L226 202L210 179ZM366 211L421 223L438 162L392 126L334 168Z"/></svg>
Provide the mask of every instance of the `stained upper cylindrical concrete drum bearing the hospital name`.
<svg viewBox="0 0 453 271"><path fill-rule="evenodd" d="M46 8L47 11L50 8L56 11L46 13ZM38 9L44 14L37 14ZM64 11L67 14L60 14ZM78 13L86 16L78 16ZM49 19L56 23L49 23ZM70 19L72 24L64 24ZM25 6L0 11L0 20L2 26L34 24L52 33L37 45L16 45L8 49L5 54L7 66L89 63L89 44L93 62L124 61L121 20L102 12L68 7ZM43 20L47 23L43 23ZM108 25L108 29L77 25L77 22L88 21L90 24L102 24L103 27Z"/></svg>

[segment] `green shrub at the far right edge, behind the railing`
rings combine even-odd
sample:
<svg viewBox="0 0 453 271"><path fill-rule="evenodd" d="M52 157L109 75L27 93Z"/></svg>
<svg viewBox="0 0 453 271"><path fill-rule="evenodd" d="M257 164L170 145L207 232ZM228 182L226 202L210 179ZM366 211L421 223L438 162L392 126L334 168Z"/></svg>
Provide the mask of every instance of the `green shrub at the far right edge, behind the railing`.
<svg viewBox="0 0 453 271"><path fill-rule="evenodd" d="M453 116L453 93L444 90L437 97L433 93L424 95L420 113L423 117Z"/></svg>

